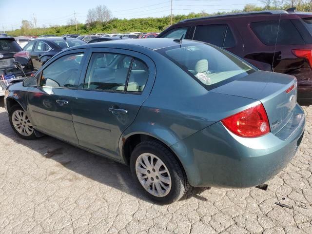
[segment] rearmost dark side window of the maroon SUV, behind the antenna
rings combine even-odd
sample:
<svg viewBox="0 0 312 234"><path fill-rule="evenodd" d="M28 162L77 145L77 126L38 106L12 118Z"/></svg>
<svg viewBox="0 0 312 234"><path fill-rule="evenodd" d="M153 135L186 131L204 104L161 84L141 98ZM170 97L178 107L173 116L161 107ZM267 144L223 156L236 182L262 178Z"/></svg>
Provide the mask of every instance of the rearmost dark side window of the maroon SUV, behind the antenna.
<svg viewBox="0 0 312 234"><path fill-rule="evenodd" d="M305 44L291 20L280 20L280 23L278 20L253 22L250 27L257 38L265 45L275 45L275 42L276 45Z"/></svg>

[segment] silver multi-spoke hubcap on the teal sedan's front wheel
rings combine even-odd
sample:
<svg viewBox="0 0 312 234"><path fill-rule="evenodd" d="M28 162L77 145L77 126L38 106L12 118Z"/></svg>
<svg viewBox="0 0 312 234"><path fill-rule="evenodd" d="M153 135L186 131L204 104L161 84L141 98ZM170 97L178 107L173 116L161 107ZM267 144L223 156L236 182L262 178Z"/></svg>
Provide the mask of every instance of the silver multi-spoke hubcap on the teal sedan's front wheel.
<svg viewBox="0 0 312 234"><path fill-rule="evenodd" d="M12 123L16 131L25 137L29 137L34 132L33 126L24 111L16 110L13 112Z"/></svg>

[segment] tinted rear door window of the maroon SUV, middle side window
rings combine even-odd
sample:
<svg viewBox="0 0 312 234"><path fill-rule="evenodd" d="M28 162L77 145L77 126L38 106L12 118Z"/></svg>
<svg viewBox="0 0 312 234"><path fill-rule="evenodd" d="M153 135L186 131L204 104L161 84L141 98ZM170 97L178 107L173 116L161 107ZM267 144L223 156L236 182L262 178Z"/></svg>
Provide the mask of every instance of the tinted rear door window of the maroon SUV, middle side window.
<svg viewBox="0 0 312 234"><path fill-rule="evenodd" d="M235 46L234 36L227 24L196 26L193 39L223 48Z"/></svg>

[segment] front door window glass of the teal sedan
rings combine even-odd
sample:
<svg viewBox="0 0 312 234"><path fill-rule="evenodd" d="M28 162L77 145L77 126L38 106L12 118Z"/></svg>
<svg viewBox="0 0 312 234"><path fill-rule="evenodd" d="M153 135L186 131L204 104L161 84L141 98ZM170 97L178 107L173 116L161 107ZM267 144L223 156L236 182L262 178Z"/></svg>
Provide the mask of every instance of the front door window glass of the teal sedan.
<svg viewBox="0 0 312 234"><path fill-rule="evenodd" d="M41 75L40 86L74 87L78 83L82 68L83 53L65 55L48 67Z"/></svg>

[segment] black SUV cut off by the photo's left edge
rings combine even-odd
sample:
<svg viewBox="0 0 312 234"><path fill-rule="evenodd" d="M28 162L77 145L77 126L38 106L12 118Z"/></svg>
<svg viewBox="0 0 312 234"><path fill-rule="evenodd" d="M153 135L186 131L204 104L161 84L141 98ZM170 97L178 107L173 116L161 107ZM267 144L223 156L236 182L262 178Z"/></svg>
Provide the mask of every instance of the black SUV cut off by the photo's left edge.
<svg viewBox="0 0 312 234"><path fill-rule="evenodd" d="M13 37L0 36L0 96L8 86L8 79L24 77L24 73L14 62L19 62L26 76L34 70L28 52L22 51Z"/></svg>

